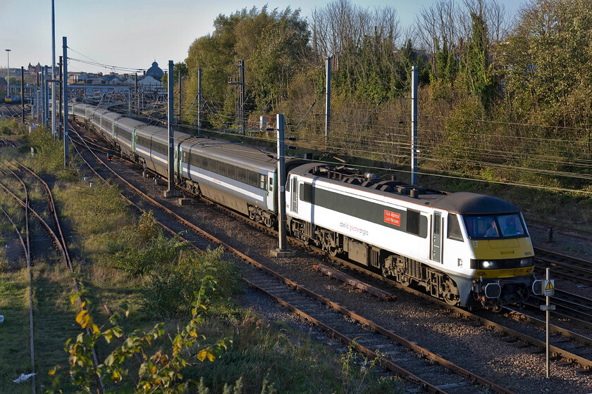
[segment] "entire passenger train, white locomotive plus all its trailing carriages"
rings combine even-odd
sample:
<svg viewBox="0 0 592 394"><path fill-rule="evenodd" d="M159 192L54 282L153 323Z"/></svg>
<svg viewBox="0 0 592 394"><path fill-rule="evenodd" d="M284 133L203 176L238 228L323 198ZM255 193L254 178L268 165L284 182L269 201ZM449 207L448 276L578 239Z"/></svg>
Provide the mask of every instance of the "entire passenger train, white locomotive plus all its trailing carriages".
<svg viewBox="0 0 592 394"><path fill-rule="evenodd" d="M168 130L107 110L68 105L123 155L168 177ZM277 159L242 144L175 132L175 183L273 227ZM286 162L288 231L331 255L450 305L526 300L534 250L516 205L443 193L305 160Z"/></svg>

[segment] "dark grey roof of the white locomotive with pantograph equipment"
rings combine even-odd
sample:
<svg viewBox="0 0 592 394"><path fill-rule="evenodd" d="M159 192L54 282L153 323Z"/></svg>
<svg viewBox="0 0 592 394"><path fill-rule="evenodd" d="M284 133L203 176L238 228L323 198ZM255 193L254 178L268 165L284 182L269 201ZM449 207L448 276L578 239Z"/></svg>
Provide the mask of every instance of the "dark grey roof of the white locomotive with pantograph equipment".
<svg viewBox="0 0 592 394"><path fill-rule="evenodd" d="M516 205L497 197L484 196L468 191L445 193L425 189L421 186L404 184L403 182L388 181L371 176L365 177L361 174L339 175L338 172L331 173L331 171L327 171L327 168L328 166L323 163L308 163L293 168L290 173L310 178L321 178L328 183L340 184L360 191L371 191L371 193L378 196L396 198L400 201L446 210L460 215L491 215L520 211L520 208ZM335 174L338 176L335 176Z"/></svg>

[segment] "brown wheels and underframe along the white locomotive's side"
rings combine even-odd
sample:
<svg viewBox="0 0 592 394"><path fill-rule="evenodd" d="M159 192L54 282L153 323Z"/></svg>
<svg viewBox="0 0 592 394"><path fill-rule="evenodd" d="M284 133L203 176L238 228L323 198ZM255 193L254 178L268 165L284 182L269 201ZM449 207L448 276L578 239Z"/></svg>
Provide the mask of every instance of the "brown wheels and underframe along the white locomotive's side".
<svg viewBox="0 0 592 394"><path fill-rule="evenodd" d="M445 301L448 305L460 303L460 291L455 281L445 272L433 269L423 262L295 218L290 218L289 231L292 236L304 243L322 248L333 256L346 255L359 265L378 272L383 277L394 279L403 286L417 284L425 288L431 296Z"/></svg>

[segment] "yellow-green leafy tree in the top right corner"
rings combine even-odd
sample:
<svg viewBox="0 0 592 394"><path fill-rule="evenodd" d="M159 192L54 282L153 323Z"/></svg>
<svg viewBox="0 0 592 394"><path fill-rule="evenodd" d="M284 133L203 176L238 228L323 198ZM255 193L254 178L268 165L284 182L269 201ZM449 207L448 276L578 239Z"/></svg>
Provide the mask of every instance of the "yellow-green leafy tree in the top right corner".
<svg viewBox="0 0 592 394"><path fill-rule="evenodd" d="M586 0L533 0L498 56L519 117L588 125L592 108L592 9Z"/></svg>

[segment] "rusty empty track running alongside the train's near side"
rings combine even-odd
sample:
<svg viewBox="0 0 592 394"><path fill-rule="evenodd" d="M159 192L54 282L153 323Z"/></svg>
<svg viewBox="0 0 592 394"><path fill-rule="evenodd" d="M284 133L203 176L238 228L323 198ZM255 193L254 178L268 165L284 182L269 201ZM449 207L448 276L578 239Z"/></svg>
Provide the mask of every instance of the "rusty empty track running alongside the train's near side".
<svg viewBox="0 0 592 394"><path fill-rule="evenodd" d="M98 177L106 179L114 175L118 177L118 182L125 183L123 189L131 187L135 190L136 195L142 193L123 177L119 177L114 170L109 169L109 172L101 174L100 172L104 170L97 170L95 164L97 162L100 162L106 168L110 166L100 160L97 155L94 155L93 163L88 163L87 166ZM128 196L125 190L122 194ZM413 384L415 389L429 393L474 393L474 385L479 384L483 386L484 390L491 390L496 393L510 393L509 390L458 367L426 348L421 348L412 341L397 336L393 331L378 326L378 324L371 322L371 320L362 317L360 314L347 310L328 298L318 295L295 283L295 281L261 265L261 263L248 258L247 255L207 234L195 224L171 212L170 209L157 203L144 193L142 193L142 200L149 201L152 204L151 210L154 217L169 233L178 234L180 231L187 230L187 228L191 229L190 232L186 233L187 235L184 235L184 238L201 250L211 246L212 243L223 245L227 251L231 251L240 260L257 267L257 270L248 269L244 273L251 286L268 294L278 303L288 307L288 309L304 317L304 319L313 322L323 331L330 333L333 338L339 338L345 345L353 343L359 352L371 358L378 357L384 368L405 376L407 381L412 382L409 384ZM137 196L132 196L130 203L139 208L140 205L143 205L142 201L137 201ZM173 220L171 220L171 217L173 217ZM347 319L344 317L347 317ZM412 352L407 349L411 349ZM450 371L455 372L455 374L451 375ZM422 378L419 377L420 374Z"/></svg>

